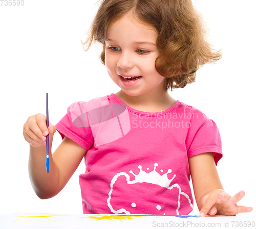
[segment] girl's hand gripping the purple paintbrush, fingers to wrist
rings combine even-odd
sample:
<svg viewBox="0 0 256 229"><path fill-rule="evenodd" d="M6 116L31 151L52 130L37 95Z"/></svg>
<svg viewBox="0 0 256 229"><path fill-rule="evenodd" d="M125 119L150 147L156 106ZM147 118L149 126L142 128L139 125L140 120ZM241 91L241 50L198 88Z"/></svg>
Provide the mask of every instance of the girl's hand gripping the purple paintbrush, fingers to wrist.
<svg viewBox="0 0 256 229"><path fill-rule="evenodd" d="M49 129L46 125L46 116L36 114L28 117L24 123L23 136L32 147L40 148L46 145L46 136L50 133L52 141L53 134L56 132L55 126L49 122Z"/></svg>

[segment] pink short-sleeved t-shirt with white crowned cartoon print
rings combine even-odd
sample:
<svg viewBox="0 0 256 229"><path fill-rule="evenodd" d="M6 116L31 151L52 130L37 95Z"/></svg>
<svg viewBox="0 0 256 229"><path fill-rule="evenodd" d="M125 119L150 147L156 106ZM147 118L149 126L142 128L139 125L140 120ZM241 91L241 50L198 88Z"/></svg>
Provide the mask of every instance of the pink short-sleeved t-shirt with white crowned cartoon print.
<svg viewBox="0 0 256 229"><path fill-rule="evenodd" d="M88 150L79 176L83 213L189 214L188 157L213 152L216 164L222 157L215 122L179 100L148 113L112 93L72 104L56 128Z"/></svg>

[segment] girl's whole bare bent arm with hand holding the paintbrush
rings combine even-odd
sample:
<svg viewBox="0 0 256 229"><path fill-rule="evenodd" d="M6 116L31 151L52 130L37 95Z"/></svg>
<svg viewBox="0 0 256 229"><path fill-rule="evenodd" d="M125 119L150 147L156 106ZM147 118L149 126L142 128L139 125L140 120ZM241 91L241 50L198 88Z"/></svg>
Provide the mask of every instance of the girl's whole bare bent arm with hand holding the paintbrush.
<svg viewBox="0 0 256 229"><path fill-rule="evenodd" d="M52 155L52 140L56 128L46 116L32 115L24 124L23 135L30 143L29 176L36 195L41 199L57 195L80 164L86 149L65 137ZM46 170L46 136L49 133L49 173ZM73 154L73 152L76 152Z"/></svg>

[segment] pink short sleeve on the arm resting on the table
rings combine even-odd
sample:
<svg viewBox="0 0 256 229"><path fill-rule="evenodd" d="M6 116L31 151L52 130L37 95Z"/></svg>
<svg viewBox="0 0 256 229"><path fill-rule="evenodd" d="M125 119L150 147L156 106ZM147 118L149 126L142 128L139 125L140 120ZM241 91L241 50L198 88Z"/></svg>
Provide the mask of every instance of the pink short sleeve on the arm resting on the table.
<svg viewBox="0 0 256 229"><path fill-rule="evenodd" d="M207 118L197 130L191 128L188 142L190 143L187 150L188 157L202 154L203 152L213 152L216 165L222 158L220 132L216 123L211 119Z"/></svg>

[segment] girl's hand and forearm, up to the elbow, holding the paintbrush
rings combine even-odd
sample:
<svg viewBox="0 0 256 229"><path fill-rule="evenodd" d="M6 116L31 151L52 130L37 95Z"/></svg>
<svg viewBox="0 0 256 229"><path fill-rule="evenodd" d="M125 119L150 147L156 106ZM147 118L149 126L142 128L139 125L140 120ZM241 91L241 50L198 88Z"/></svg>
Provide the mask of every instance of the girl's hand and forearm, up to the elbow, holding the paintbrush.
<svg viewBox="0 0 256 229"><path fill-rule="evenodd" d="M24 124L23 135L30 143L29 175L32 187L41 199L54 196L58 190L58 169L53 161L51 148L56 128L49 122L47 129L46 116L32 115ZM46 136L49 134L49 161L51 169L46 171Z"/></svg>

